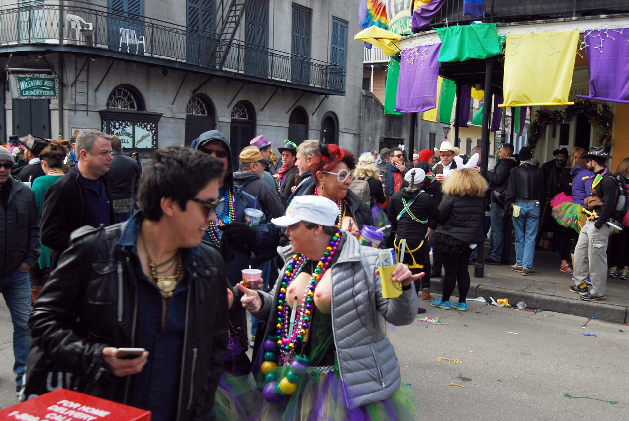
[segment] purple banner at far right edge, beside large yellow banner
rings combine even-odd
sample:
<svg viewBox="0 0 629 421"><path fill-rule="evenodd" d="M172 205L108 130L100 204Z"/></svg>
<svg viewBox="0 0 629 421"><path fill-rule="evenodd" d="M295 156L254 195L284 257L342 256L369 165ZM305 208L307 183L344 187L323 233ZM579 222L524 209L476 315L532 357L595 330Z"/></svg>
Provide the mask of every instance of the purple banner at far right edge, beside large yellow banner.
<svg viewBox="0 0 629 421"><path fill-rule="evenodd" d="M629 30L585 31L589 96L629 103Z"/></svg>

